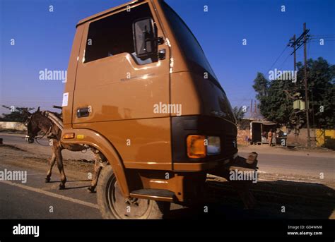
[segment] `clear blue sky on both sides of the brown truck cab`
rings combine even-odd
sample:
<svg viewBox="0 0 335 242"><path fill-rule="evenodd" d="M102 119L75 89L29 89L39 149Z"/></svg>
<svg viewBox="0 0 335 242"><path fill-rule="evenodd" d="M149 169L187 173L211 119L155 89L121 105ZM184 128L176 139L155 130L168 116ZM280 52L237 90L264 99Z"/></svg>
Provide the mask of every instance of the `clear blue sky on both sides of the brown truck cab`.
<svg viewBox="0 0 335 242"><path fill-rule="evenodd" d="M39 80L39 71L66 70L78 20L125 2L0 0L0 105L42 109L61 105L64 83ZM257 71L269 71L290 37L301 34L304 22L311 35L327 35L323 46L316 41L308 44L308 58L322 56L335 63L335 1L166 2L194 32L233 107L249 106ZM205 5L208 12L204 12ZM247 45L242 45L243 39ZM292 70L290 52L287 48L271 69ZM299 49L298 61L302 61L302 54ZM0 113L4 111L0 108Z"/></svg>

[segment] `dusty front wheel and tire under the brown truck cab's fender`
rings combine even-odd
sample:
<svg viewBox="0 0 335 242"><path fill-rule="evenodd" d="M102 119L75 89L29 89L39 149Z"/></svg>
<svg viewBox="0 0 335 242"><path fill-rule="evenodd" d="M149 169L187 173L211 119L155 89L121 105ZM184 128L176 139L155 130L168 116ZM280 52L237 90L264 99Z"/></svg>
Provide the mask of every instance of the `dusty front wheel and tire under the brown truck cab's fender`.
<svg viewBox="0 0 335 242"><path fill-rule="evenodd" d="M146 199L124 199L110 165L101 171L97 200L104 219L162 219L170 210L170 202Z"/></svg>

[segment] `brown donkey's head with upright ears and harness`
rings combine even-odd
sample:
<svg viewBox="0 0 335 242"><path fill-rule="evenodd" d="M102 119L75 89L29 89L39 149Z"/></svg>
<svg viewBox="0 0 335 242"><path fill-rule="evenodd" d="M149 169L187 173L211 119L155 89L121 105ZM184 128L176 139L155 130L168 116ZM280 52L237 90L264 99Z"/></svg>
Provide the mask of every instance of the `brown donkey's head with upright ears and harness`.
<svg viewBox="0 0 335 242"><path fill-rule="evenodd" d="M40 111L38 107L35 113L31 114L28 110L23 111L28 118L25 121L25 126L27 127L27 135L25 135L25 140L28 143L34 143L34 139L41 131L47 132L48 128L52 125L46 116Z"/></svg>

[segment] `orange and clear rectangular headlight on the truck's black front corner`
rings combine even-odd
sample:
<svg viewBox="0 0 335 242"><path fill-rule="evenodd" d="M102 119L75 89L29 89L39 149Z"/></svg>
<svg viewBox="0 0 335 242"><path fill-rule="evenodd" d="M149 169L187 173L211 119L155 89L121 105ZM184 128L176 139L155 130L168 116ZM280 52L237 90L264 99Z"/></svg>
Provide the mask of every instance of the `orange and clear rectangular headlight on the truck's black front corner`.
<svg viewBox="0 0 335 242"><path fill-rule="evenodd" d="M204 158L206 155L218 155L220 153L220 137L205 135L187 136L187 156L189 158Z"/></svg>

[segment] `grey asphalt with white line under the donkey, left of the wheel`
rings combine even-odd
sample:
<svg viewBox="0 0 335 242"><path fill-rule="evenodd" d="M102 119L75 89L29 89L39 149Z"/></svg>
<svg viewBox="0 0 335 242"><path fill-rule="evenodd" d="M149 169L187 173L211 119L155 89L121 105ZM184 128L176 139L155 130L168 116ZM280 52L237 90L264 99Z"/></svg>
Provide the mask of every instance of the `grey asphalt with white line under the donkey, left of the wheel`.
<svg viewBox="0 0 335 242"><path fill-rule="evenodd" d="M45 172L35 167L0 164L0 170L4 169L24 169L28 179L27 183L0 182L0 219L101 218L95 194L86 192L90 183L87 179L69 176L66 190L58 190L58 177L52 183L44 183Z"/></svg>

